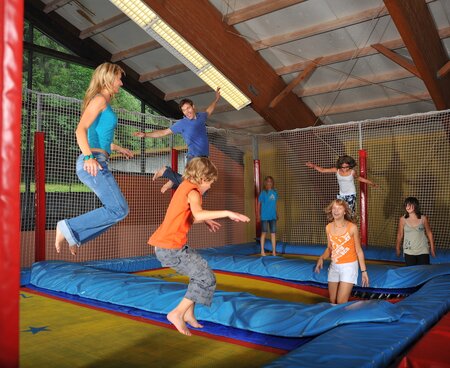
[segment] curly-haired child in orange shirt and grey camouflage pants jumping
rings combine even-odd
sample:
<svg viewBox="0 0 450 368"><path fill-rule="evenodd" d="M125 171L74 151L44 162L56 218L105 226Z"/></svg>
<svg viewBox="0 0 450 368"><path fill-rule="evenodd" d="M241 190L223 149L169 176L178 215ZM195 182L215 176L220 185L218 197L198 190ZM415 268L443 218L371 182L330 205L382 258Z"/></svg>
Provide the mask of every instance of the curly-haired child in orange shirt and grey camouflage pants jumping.
<svg viewBox="0 0 450 368"><path fill-rule="evenodd" d="M208 263L187 244L187 233L193 223L205 222L215 232L220 224L214 219L229 217L233 221L249 222L240 213L227 210L207 211L202 208L202 195L217 180L216 166L206 157L189 161L166 212L161 226L153 233L148 244L155 247L158 260L164 267L171 267L189 276L187 292L178 306L167 315L179 332L191 335L186 322L194 328L202 328L195 318L195 303L210 306L216 288L216 278Z"/></svg>

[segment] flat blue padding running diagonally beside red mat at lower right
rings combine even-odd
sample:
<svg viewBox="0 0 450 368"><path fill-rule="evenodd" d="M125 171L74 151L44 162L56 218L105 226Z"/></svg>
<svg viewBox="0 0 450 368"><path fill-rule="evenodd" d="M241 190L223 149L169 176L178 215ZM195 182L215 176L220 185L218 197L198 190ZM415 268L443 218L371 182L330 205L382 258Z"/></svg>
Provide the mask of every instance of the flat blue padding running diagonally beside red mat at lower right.
<svg viewBox="0 0 450 368"><path fill-rule="evenodd" d="M450 276L428 281L395 304L400 320L339 326L267 364L266 368L387 367L450 309Z"/></svg>

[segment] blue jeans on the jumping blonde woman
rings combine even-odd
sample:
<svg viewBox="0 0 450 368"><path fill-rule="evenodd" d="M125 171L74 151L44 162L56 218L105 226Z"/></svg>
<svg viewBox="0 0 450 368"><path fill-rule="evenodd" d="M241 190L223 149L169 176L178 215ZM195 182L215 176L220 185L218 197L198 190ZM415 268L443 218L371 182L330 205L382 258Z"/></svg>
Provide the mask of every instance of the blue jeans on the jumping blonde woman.
<svg viewBox="0 0 450 368"><path fill-rule="evenodd" d="M128 215L127 201L108 170L108 158L103 153L93 154L103 170L98 170L97 176L90 175L84 170L84 156L80 155L77 160L77 175L97 195L103 207L58 222L57 226L70 246L80 246L96 238Z"/></svg>

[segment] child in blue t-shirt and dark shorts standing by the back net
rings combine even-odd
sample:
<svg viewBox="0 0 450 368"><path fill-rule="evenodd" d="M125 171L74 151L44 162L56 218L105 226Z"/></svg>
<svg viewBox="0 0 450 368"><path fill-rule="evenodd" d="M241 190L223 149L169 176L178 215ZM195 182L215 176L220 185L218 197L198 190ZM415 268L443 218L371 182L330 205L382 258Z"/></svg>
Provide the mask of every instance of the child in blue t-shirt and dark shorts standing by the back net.
<svg viewBox="0 0 450 368"><path fill-rule="evenodd" d="M264 190L259 194L258 211L261 216L261 255L265 256L264 244L266 241L266 233L270 231L270 240L272 241L272 254L276 256L276 232L277 232L277 200L278 193L274 188L274 180L271 176L264 179Z"/></svg>

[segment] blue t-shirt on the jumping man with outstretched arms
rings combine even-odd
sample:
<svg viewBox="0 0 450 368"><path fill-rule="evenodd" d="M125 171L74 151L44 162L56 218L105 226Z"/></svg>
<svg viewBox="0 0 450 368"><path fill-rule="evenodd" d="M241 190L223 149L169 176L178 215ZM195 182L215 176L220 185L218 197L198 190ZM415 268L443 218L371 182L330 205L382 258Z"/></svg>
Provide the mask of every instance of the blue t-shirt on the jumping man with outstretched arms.
<svg viewBox="0 0 450 368"><path fill-rule="evenodd" d="M195 119L184 117L170 127L174 134L181 134L188 146L188 155L193 157L209 156L206 119L208 113L198 112Z"/></svg>

